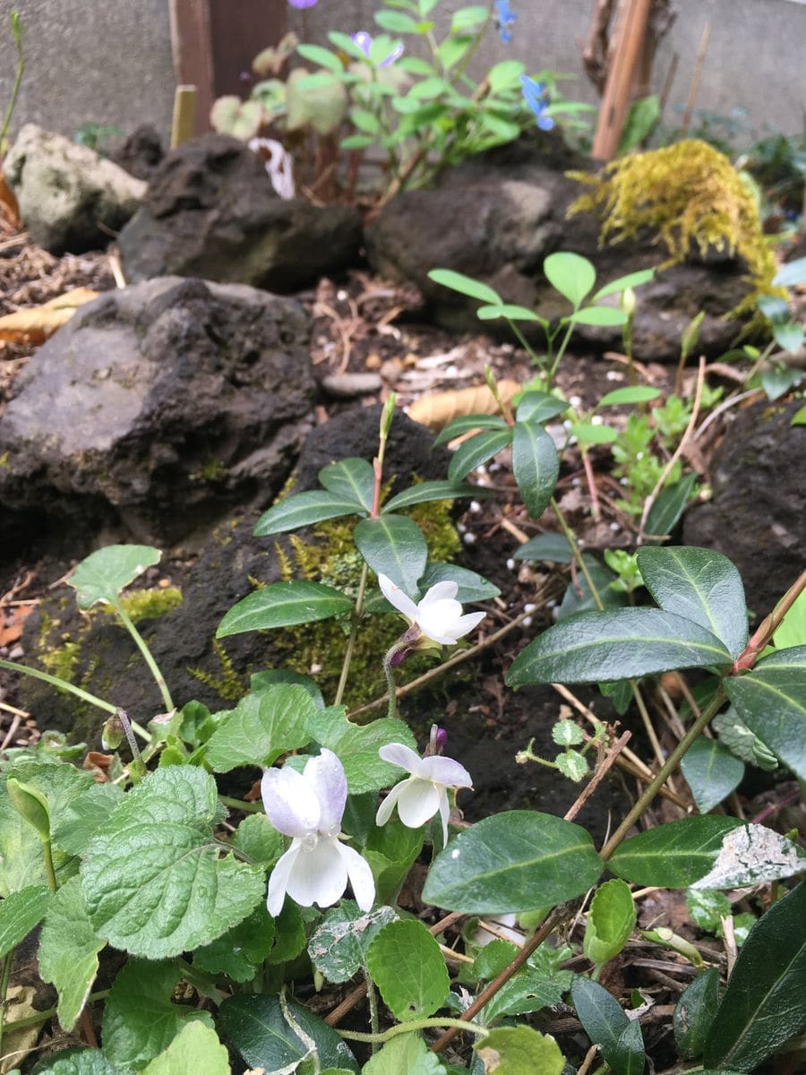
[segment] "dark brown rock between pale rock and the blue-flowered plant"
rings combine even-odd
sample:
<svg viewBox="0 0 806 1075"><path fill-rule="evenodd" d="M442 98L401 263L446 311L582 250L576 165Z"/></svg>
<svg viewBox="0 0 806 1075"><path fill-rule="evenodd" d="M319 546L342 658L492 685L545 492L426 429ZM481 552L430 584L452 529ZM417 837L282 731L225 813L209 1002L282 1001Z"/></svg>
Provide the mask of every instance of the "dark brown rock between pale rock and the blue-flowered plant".
<svg viewBox="0 0 806 1075"><path fill-rule="evenodd" d="M118 243L130 281L175 274L288 292L355 263L361 220L284 201L250 149L208 134L168 154Z"/></svg>

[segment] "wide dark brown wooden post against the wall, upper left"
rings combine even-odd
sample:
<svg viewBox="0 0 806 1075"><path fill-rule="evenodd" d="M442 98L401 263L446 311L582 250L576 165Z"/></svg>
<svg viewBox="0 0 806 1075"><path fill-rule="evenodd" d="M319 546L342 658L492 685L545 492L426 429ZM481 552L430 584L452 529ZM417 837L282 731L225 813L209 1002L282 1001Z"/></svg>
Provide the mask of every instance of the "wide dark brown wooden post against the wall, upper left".
<svg viewBox="0 0 806 1075"><path fill-rule="evenodd" d="M170 0L176 82L196 86L193 133L211 130L210 110L225 94L248 96L241 73L286 32L287 0Z"/></svg>

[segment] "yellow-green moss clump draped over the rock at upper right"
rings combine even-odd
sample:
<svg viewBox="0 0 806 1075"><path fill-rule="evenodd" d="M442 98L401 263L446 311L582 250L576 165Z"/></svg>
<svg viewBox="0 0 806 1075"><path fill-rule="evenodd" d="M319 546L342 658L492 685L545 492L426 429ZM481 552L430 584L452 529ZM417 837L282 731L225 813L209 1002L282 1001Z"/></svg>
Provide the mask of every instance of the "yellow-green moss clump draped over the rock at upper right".
<svg viewBox="0 0 806 1075"><path fill-rule="evenodd" d="M733 316L752 310L773 287L777 271L752 192L730 159L700 139L637 153L607 164L602 175L568 172L591 187L568 210L596 213L600 241L619 243L643 229L656 232L668 250L661 268L682 261L691 246L738 254L747 263L749 295Z"/></svg>

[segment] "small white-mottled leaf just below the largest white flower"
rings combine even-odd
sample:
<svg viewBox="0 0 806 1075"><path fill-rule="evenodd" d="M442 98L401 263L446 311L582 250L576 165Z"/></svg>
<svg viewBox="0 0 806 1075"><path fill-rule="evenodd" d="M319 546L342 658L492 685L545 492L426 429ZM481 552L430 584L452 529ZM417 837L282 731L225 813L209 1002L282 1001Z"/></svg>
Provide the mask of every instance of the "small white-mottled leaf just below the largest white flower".
<svg viewBox="0 0 806 1075"><path fill-rule="evenodd" d="M311 962L328 981L349 981L366 963L372 941L395 920L394 907L361 911L354 900L342 900L325 913L307 946Z"/></svg>

